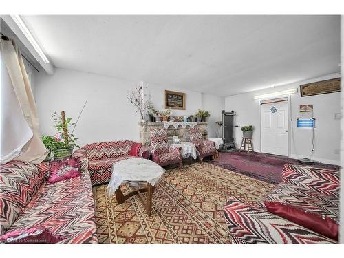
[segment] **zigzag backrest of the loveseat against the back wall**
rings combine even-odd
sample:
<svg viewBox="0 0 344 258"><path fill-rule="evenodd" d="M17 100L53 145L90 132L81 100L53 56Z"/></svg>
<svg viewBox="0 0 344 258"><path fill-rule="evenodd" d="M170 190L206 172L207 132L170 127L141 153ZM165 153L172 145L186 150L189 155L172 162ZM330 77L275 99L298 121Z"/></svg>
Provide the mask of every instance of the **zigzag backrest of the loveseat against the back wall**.
<svg viewBox="0 0 344 258"><path fill-rule="evenodd" d="M133 143L134 142L132 142L131 140L117 142L98 142L87 144L81 149L84 149L86 151L87 158L89 160L103 160L106 158L116 158L121 155L128 155Z"/></svg>

